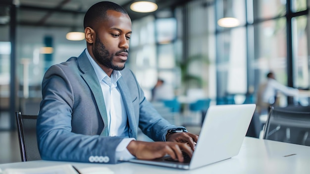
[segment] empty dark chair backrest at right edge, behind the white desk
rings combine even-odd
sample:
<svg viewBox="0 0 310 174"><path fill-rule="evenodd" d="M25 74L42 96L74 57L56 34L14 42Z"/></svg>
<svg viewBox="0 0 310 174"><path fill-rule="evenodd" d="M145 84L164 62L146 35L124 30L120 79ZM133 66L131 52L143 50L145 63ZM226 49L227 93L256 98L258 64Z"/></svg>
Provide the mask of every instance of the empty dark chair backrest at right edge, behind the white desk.
<svg viewBox="0 0 310 174"><path fill-rule="evenodd" d="M263 139L310 146L310 107L271 107Z"/></svg>

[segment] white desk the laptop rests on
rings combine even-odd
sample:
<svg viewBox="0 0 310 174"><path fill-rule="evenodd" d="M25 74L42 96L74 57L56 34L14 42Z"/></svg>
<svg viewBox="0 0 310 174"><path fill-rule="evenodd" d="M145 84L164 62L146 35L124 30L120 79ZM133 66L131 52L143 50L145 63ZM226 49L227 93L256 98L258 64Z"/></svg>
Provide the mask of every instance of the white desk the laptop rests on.
<svg viewBox="0 0 310 174"><path fill-rule="evenodd" d="M296 155L284 157L290 154ZM1 164L0 169L45 167L65 163L68 162L31 161ZM103 165L114 174L310 174L310 147L246 137L237 156L190 171L127 162L116 165L70 164L79 169Z"/></svg>

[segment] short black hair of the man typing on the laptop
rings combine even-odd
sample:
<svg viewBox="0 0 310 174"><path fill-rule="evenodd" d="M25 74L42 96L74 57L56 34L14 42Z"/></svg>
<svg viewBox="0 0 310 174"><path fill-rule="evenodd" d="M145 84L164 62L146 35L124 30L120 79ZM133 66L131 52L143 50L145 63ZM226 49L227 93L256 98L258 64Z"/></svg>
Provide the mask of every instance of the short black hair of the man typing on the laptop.
<svg viewBox="0 0 310 174"><path fill-rule="evenodd" d="M128 14L127 11L120 5L110 2L110 1L101 1L92 5L84 16L84 29L86 27L93 28L94 25L98 22L102 22L106 18L106 11L114 10L124 14Z"/></svg>

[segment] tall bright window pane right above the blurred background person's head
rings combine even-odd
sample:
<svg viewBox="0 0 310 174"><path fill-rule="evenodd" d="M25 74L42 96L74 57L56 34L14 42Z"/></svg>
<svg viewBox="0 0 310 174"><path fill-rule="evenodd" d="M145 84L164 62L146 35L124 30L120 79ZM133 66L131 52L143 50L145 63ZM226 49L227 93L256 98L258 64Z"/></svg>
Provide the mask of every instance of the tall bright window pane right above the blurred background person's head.
<svg viewBox="0 0 310 174"><path fill-rule="evenodd" d="M286 19L267 20L255 25L256 68L260 71L260 79L264 81L266 74L273 71L277 80L287 84L287 46Z"/></svg>

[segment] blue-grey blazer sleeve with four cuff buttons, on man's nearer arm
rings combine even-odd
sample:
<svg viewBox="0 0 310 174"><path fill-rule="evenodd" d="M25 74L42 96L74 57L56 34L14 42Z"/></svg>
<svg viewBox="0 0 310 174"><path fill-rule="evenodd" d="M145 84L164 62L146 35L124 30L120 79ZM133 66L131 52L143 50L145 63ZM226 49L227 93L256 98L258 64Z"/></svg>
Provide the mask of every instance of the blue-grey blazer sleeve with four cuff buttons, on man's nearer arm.
<svg viewBox="0 0 310 174"><path fill-rule="evenodd" d="M117 163L115 149L120 137L85 135L72 132L72 115L78 99L61 65L53 65L42 82L43 100L37 120L37 139L41 158L53 161ZM85 103L85 105L88 105ZM91 115L92 112L89 112ZM81 115L88 115L87 111ZM81 126L80 129L83 129Z"/></svg>

